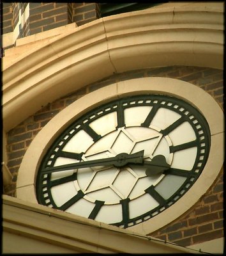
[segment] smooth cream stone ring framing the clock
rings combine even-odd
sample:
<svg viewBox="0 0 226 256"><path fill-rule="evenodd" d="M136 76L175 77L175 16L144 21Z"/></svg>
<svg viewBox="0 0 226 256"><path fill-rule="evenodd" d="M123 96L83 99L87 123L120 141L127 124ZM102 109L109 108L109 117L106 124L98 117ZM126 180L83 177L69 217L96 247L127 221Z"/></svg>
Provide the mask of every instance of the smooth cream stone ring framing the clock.
<svg viewBox="0 0 226 256"><path fill-rule="evenodd" d="M34 186L41 158L54 139L68 125L72 124L73 120L105 102L145 93L172 95L199 109L209 124L211 149L206 167L199 179L176 204L171 205L158 216L128 229L142 234L150 234L188 211L206 193L221 170L223 164L223 112L215 100L204 90L193 84L165 77L145 77L110 84L85 95L54 116L36 135L27 149L19 169L17 198L37 204Z"/></svg>

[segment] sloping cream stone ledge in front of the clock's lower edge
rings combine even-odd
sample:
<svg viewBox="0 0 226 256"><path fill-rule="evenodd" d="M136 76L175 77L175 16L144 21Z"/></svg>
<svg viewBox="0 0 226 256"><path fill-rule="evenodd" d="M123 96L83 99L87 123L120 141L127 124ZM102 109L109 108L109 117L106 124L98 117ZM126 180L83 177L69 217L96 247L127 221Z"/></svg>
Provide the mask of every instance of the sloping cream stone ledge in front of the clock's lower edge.
<svg viewBox="0 0 226 256"><path fill-rule="evenodd" d="M17 243L9 245L12 239ZM199 253L6 195L2 248L3 253Z"/></svg>

